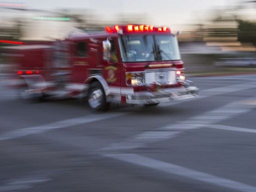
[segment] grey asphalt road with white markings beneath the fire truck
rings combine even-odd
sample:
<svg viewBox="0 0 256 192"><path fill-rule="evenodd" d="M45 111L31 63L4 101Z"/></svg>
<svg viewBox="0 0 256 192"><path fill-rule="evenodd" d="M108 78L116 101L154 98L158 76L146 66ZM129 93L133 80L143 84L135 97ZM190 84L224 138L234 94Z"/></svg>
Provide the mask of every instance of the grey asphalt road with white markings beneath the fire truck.
<svg viewBox="0 0 256 192"><path fill-rule="evenodd" d="M1 76L0 192L256 191L256 75L190 80L195 99L96 113Z"/></svg>

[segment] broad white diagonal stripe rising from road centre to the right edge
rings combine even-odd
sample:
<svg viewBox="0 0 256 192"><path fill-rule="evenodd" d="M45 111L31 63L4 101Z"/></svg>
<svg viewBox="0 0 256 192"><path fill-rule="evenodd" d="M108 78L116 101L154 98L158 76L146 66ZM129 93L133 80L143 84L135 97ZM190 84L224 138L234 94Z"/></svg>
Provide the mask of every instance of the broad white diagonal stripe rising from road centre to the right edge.
<svg viewBox="0 0 256 192"><path fill-rule="evenodd" d="M221 120L232 118L236 115L251 111L254 107L242 104L244 100L234 101L219 108L204 112L196 116L189 117L187 120L170 123L156 130L146 131L125 139L118 143L112 143L104 148L103 151L127 150L142 147L149 143L167 140L175 137L183 131L195 128L207 127Z"/></svg>

